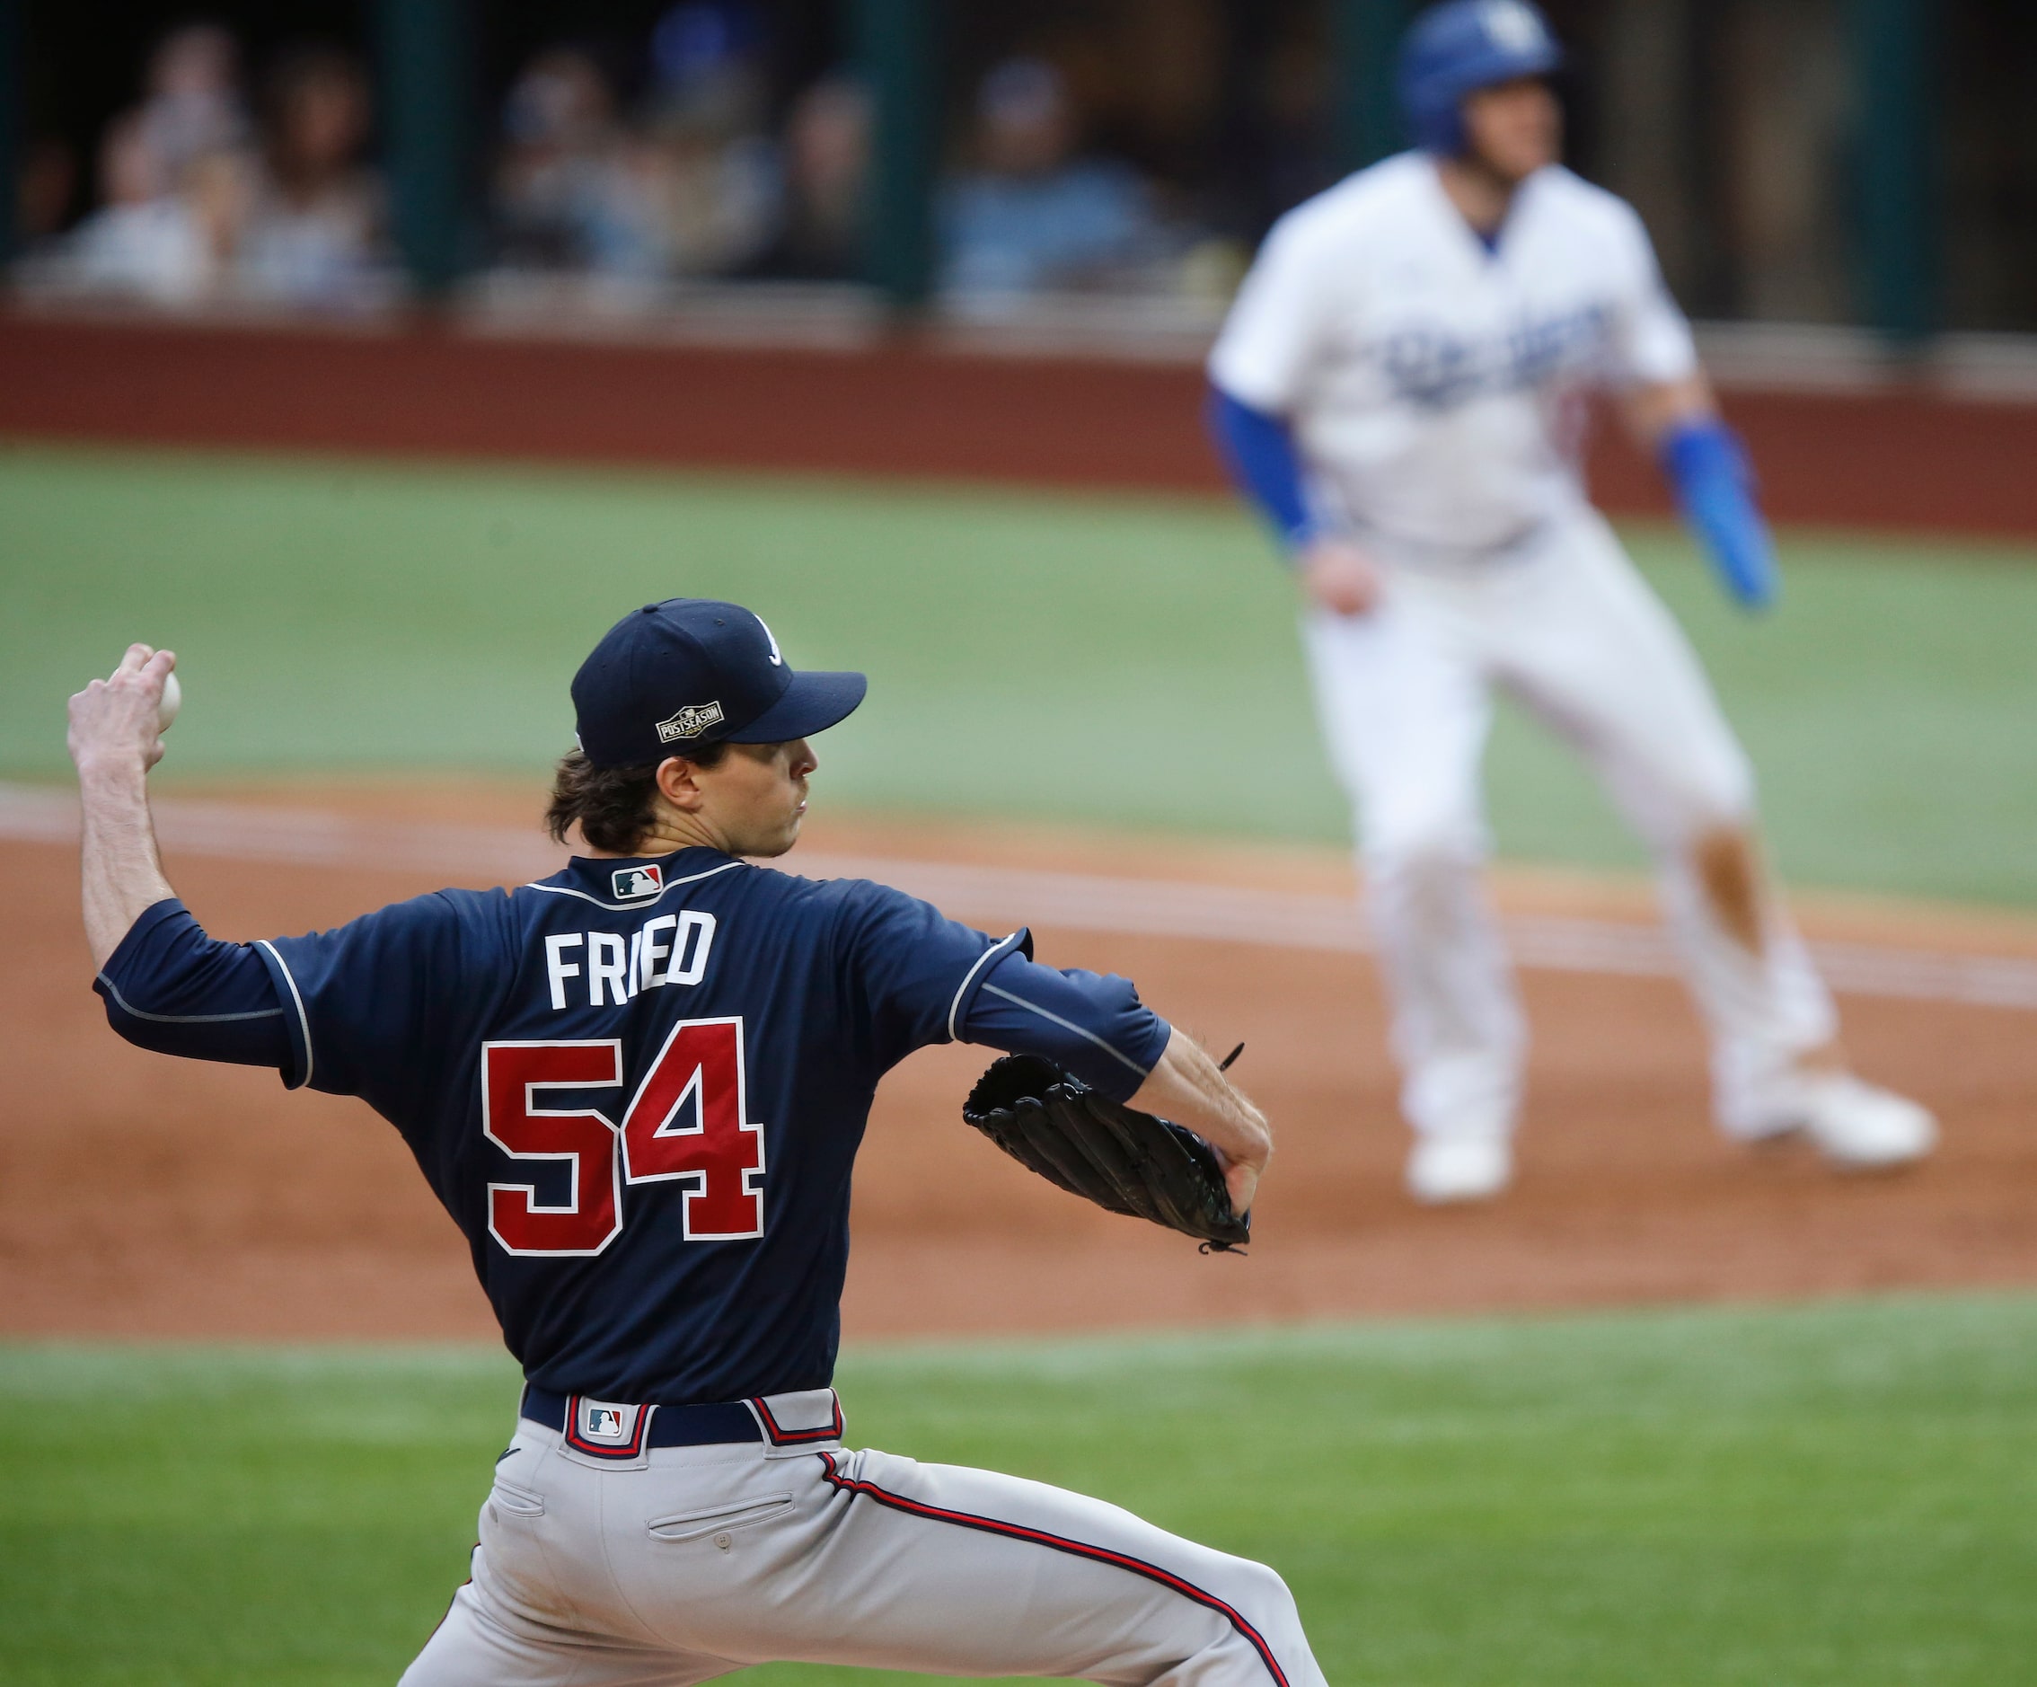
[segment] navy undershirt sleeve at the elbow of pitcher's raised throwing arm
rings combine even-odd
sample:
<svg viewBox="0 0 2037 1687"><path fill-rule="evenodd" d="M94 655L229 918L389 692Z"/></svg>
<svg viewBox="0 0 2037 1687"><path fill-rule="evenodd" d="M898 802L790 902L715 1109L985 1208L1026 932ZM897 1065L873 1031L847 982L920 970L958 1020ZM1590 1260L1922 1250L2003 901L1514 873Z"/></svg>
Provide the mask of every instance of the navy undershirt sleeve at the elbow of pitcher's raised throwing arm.
<svg viewBox="0 0 2037 1687"><path fill-rule="evenodd" d="M106 1023L136 1047L277 1070L289 1059L261 956L208 937L175 896L143 911L92 988L106 998Z"/></svg>

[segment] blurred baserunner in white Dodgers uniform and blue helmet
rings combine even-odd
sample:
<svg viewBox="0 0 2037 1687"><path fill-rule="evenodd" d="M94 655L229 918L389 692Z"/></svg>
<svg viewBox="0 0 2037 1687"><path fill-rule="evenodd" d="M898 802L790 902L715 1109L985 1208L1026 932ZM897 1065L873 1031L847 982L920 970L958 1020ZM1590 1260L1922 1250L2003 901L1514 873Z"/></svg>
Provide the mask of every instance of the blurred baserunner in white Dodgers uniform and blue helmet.
<svg viewBox="0 0 2037 1687"><path fill-rule="evenodd" d="M1393 994L1410 1190L1511 1178L1526 1035L1481 890L1479 762L1503 687L1597 770L1656 856L1738 1139L1846 1167L1925 1155L1931 1117L1846 1068L1766 876L1748 758L1683 632L1585 495L1611 389L1727 589L1768 534L1634 210L1556 163L1560 51L1522 0L1452 0L1401 49L1416 151L1267 236L1210 357L1212 424L1289 546L1332 760Z"/></svg>

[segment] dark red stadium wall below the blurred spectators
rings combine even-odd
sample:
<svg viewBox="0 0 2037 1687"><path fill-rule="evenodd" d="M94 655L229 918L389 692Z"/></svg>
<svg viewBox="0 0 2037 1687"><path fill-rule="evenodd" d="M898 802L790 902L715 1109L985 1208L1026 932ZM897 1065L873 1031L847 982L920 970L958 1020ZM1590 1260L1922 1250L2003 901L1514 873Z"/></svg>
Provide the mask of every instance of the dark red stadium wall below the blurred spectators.
<svg viewBox="0 0 2037 1687"><path fill-rule="evenodd" d="M1784 522L2037 536L2037 403L1725 395ZM501 338L0 314L0 436L1220 491L1186 361ZM1593 489L1660 513L1599 428Z"/></svg>

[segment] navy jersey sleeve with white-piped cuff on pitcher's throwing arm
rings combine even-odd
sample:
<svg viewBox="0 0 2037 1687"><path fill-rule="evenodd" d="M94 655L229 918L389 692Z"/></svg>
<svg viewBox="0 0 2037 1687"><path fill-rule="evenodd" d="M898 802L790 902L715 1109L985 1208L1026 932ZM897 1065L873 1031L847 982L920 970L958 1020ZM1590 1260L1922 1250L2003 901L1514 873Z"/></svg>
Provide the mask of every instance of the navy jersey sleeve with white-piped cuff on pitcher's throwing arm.
<svg viewBox="0 0 2037 1687"><path fill-rule="evenodd" d="M377 1106L385 1088L428 1090L452 1055L452 1021L481 994L471 927L450 892L434 892L255 943L283 1004L283 1082Z"/></svg>

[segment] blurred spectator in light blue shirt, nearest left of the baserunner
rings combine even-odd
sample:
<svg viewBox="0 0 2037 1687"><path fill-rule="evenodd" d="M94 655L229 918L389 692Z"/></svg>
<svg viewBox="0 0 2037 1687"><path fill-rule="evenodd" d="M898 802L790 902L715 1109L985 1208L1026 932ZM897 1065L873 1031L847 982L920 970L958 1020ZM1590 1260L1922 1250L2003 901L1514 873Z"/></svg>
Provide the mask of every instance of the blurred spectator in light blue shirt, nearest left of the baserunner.
<svg viewBox="0 0 2037 1687"><path fill-rule="evenodd" d="M978 167L941 196L943 285L982 300L1147 279L1167 253L1131 165L1082 159L1061 73L1008 59L976 100Z"/></svg>

